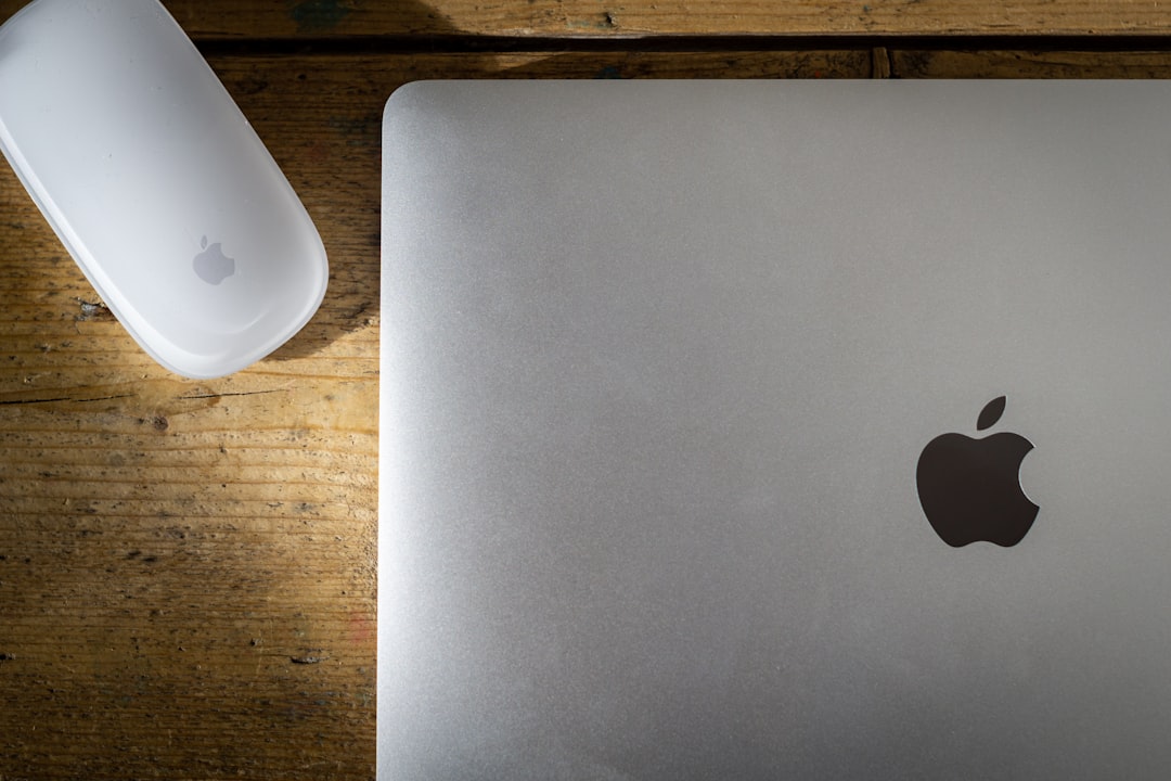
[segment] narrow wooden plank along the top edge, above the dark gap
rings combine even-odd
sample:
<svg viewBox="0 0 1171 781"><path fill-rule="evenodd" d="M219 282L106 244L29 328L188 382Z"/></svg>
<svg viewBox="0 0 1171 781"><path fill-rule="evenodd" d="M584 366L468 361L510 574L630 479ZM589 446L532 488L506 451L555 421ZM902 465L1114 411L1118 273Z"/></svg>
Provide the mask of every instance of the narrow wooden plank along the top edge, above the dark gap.
<svg viewBox="0 0 1171 781"><path fill-rule="evenodd" d="M1157 0L165 0L198 40L657 35L1167 35ZM6 19L25 0L0 0Z"/></svg>

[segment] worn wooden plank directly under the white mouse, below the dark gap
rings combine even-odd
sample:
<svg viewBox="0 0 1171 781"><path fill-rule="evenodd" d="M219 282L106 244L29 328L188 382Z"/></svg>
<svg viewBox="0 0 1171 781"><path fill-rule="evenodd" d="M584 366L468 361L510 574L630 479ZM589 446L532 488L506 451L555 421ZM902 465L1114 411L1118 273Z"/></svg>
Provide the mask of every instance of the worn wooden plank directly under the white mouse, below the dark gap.
<svg viewBox="0 0 1171 781"><path fill-rule="evenodd" d="M369 779L379 126L425 77L867 76L868 52L220 57L316 220L324 304L155 365L0 166L0 777ZM177 183L182 186L182 183Z"/></svg>

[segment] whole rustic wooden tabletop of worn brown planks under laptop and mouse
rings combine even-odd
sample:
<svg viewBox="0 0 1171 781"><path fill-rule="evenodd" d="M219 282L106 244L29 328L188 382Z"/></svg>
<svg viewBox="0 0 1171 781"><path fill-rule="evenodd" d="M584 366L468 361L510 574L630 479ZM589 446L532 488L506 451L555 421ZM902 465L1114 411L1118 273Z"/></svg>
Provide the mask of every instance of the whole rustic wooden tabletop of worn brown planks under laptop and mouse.
<svg viewBox="0 0 1171 781"><path fill-rule="evenodd" d="M399 84L1171 74L1153 0L166 5L304 200L330 287L268 359L178 378L0 166L0 781L374 776L378 145Z"/></svg>

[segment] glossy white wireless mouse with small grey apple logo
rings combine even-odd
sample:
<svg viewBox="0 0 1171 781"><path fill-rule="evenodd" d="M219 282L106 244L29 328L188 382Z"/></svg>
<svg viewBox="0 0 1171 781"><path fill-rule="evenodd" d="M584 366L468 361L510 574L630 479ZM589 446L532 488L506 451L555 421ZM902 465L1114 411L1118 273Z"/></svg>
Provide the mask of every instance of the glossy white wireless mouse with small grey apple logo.
<svg viewBox="0 0 1171 781"><path fill-rule="evenodd" d="M231 374L326 293L317 231L157 0L36 0L0 27L0 149L156 361Z"/></svg>

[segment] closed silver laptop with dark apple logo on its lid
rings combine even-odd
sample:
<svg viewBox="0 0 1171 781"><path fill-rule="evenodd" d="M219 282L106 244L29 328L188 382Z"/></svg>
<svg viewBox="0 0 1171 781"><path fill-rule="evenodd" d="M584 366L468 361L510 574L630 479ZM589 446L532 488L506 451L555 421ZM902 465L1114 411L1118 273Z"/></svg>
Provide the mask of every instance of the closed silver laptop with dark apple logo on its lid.
<svg viewBox="0 0 1171 781"><path fill-rule="evenodd" d="M1166 82L395 93L379 777L1167 777L1169 128Z"/></svg>

